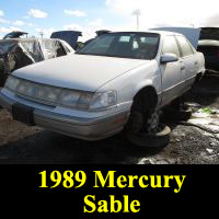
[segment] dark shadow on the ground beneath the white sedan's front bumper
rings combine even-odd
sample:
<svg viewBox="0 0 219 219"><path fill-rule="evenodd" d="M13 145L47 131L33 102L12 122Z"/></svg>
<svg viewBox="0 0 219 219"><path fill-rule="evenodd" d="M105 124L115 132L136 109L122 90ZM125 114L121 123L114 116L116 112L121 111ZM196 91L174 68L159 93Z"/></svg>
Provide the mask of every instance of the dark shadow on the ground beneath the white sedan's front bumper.
<svg viewBox="0 0 219 219"><path fill-rule="evenodd" d="M124 134L91 142L43 130L2 146L0 163L131 164L159 151L161 149L134 146L127 142Z"/></svg>

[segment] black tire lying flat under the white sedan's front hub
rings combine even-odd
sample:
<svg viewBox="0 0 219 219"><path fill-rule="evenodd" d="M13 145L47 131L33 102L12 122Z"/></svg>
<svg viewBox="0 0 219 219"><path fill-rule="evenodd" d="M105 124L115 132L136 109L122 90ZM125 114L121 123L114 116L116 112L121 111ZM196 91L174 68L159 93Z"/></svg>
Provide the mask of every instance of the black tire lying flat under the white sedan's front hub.
<svg viewBox="0 0 219 219"><path fill-rule="evenodd" d="M171 129L165 125L160 125L160 131L157 134L127 132L127 140L135 146L143 148L164 148L170 143Z"/></svg>

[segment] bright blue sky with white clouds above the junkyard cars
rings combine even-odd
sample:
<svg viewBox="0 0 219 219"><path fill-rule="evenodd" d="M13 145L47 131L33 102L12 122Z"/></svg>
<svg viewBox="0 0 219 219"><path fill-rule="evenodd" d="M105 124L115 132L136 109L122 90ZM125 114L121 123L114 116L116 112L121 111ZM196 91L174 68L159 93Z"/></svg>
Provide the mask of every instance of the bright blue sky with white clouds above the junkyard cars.
<svg viewBox="0 0 219 219"><path fill-rule="evenodd" d="M0 38L11 31L81 31L87 41L96 30L134 31L159 26L218 26L218 0L0 0Z"/></svg>

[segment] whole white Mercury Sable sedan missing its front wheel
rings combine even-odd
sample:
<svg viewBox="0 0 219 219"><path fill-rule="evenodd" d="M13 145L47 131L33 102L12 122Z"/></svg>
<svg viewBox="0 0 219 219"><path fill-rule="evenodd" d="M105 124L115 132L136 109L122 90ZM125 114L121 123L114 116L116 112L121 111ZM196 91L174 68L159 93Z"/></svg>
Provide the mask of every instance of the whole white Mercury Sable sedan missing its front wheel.
<svg viewBox="0 0 219 219"><path fill-rule="evenodd" d="M15 120L87 140L151 131L162 107L188 91L205 59L181 34L112 32L73 55L12 73L0 104Z"/></svg>

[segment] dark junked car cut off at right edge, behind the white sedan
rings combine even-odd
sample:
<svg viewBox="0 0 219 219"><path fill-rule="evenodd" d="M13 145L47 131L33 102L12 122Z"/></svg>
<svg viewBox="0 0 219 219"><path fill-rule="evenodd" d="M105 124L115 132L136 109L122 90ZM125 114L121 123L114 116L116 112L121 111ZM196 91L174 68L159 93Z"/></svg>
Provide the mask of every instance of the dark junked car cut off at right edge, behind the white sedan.
<svg viewBox="0 0 219 219"><path fill-rule="evenodd" d="M203 27L200 41L198 42L198 51L203 53L208 71L219 71L219 28Z"/></svg>

